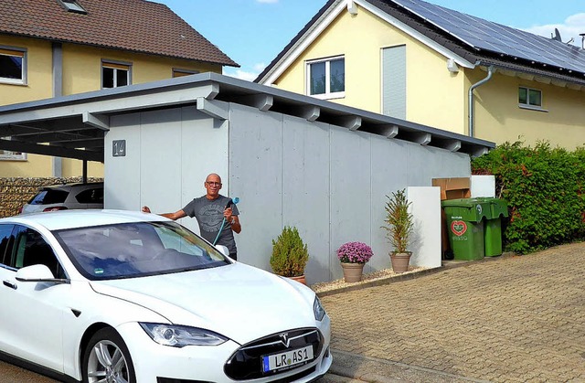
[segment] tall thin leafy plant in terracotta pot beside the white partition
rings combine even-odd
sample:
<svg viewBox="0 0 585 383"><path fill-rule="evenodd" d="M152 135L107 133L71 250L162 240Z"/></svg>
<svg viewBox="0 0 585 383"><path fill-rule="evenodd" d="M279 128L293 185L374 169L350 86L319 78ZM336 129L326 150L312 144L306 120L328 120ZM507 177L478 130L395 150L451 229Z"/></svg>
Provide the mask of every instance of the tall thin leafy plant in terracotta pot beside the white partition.
<svg viewBox="0 0 585 383"><path fill-rule="evenodd" d="M394 248L390 252L390 261L394 272L404 272L409 270L410 255L409 250L410 236L414 227L412 214L409 212L411 202L406 197L406 190L402 189L392 192L392 197L388 197L386 203L387 225L382 228L387 230L386 237Z"/></svg>

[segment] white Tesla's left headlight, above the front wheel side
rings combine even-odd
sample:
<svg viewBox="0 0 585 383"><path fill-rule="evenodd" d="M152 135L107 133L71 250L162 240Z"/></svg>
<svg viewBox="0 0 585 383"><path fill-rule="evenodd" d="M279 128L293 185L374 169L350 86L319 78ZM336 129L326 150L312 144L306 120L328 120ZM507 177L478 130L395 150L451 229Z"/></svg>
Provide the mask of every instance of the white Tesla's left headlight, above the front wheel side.
<svg viewBox="0 0 585 383"><path fill-rule="evenodd" d="M218 346L228 341L228 338L197 327L175 324L140 323L146 334L154 342L163 346Z"/></svg>

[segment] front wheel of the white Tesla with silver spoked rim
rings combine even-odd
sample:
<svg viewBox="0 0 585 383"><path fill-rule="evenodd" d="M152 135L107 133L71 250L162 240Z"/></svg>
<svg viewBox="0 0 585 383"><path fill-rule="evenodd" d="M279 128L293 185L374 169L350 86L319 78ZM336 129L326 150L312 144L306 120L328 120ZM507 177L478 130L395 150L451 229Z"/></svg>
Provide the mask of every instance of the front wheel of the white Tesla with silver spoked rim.
<svg viewBox="0 0 585 383"><path fill-rule="evenodd" d="M83 383L136 383L136 374L128 347L112 328L102 328L90 338L83 352Z"/></svg>

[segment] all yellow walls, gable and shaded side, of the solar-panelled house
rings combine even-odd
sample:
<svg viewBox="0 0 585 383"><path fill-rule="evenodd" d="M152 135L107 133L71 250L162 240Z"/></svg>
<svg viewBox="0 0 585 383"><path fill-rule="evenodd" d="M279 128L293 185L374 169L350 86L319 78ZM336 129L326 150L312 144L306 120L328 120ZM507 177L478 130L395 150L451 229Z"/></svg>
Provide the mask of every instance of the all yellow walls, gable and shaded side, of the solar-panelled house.
<svg viewBox="0 0 585 383"><path fill-rule="evenodd" d="M346 10L275 81L306 94L306 62L345 55L346 96L330 100L381 112L381 49L406 46L407 120L468 135L468 90L484 80L482 69L447 69L447 58L364 8ZM543 109L518 107L518 87L542 90ZM585 92L495 72L474 91L474 136L493 141L548 141L569 150L585 145Z"/></svg>

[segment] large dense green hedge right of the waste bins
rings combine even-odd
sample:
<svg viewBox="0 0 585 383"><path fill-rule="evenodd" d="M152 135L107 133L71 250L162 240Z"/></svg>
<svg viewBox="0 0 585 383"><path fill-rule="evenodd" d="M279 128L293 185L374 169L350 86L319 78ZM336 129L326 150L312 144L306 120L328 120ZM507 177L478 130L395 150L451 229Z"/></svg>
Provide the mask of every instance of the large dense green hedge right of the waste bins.
<svg viewBox="0 0 585 383"><path fill-rule="evenodd" d="M506 250L520 254L581 239L585 234L585 150L569 152L540 142L502 144L472 161L473 174L496 179L508 203Z"/></svg>

